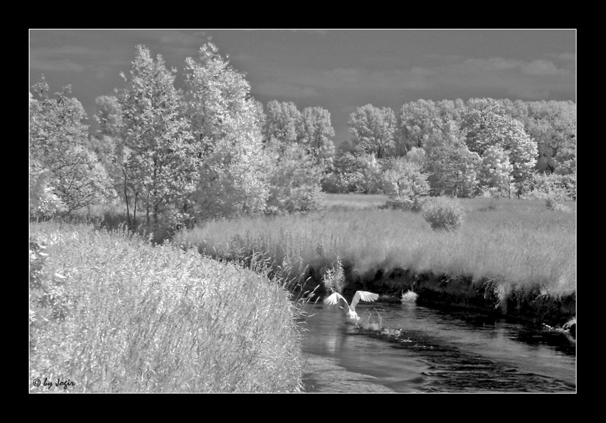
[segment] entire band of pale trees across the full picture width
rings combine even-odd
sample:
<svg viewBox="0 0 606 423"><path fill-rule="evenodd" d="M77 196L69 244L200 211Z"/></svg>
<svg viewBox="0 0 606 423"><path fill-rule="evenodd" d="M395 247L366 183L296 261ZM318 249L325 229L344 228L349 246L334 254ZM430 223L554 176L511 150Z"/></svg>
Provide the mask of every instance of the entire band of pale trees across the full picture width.
<svg viewBox="0 0 606 423"><path fill-rule="evenodd" d="M29 93L31 216L120 198L131 227L308 211L322 192L384 192L414 207L427 194L576 198L576 104L418 100L396 115L358 107L336 149L330 114L266 107L210 42L188 57L184 88L138 46L123 88L86 113L44 79Z"/></svg>

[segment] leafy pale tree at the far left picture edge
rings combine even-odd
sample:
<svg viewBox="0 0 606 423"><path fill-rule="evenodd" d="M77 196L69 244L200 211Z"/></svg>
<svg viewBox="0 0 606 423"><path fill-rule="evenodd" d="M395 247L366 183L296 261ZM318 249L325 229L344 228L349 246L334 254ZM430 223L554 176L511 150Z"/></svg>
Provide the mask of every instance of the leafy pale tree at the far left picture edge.
<svg viewBox="0 0 606 423"><path fill-rule="evenodd" d="M105 168L88 149L88 127L82 123L86 113L77 99L68 97L70 88L55 93L55 97L49 97L45 79L32 88L35 95L29 95L29 155L36 163L30 163L30 167L38 168L33 184L40 189L34 196L38 192L45 197L32 198L34 203L50 205L47 201L54 195L64 205L62 213L68 214L114 196ZM38 179L42 175L43 179ZM51 203L56 202L51 199Z"/></svg>

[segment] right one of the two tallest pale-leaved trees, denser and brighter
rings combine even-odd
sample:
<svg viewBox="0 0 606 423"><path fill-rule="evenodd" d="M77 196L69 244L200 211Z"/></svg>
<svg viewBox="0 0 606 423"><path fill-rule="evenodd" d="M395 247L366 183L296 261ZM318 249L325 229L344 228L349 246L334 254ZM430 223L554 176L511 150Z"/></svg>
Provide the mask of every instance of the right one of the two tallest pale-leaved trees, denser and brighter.
<svg viewBox="0 0 606 423"><path fill-rule="evenodd" d="M197 216L261 211L269 166L250 84L210 42L197 60L186 59L185 73L187 116L200 146L200 175L192 197Z"/></svg>

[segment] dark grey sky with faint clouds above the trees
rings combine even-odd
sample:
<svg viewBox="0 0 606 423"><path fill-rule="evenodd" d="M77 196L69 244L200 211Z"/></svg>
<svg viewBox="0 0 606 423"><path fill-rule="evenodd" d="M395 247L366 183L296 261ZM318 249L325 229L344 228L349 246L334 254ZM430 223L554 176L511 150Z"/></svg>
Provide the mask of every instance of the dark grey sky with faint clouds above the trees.
<svg viewBox="0 0 606 423"><path fill-rule="evenodd" d="M30 29L29 87L41 75L51 92L71 85L94 129L94 99L123 88L138 44L177 69L180 87L186 57L209 38L265 106L327 109L336 144L368 103L397 114L418 99L577 99L575 29Z"/></svg>

